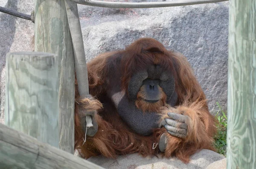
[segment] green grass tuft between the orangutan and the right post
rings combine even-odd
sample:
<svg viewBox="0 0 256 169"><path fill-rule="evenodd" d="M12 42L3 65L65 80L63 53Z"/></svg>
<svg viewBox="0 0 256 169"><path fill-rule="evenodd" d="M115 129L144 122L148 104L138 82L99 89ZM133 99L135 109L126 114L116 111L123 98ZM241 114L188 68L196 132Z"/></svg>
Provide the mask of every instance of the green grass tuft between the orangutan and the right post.
<svg viewBox="0 0 256 169"><path fill-rule="evenodd" d="M227 147L227 112L224 112L217 102L219 110L215 116L218 120L216 125L218 133L215 135L215 148L219 154L226 156L226 147Z"/></svg>

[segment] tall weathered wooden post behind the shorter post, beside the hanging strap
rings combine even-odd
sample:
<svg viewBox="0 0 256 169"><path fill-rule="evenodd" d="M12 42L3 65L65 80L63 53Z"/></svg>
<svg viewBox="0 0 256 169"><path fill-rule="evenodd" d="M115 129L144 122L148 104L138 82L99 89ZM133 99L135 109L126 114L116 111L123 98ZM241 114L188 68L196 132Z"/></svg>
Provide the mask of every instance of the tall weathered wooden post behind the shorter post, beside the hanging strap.
<svg viewBox="0 0 256 169"><path fill-rule="evenodd" d="M59 146L73 154L75 64L64 0L35 0L35 51L58 56Z"/></svg>

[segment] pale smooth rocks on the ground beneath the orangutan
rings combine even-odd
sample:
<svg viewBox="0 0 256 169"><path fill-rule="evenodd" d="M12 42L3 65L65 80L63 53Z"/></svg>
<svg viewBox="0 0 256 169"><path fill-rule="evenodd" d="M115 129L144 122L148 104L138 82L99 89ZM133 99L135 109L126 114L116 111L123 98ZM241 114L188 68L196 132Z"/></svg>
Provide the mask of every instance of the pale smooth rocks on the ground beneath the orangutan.
<svg viewBox="0 0 256 169"><path fill-rule="evenodd" d="M211 163L223 158L225 158L223 155L203 149L192 155L188 164L177 158L143 158L137 154L122 155L117 157L116 160L102 156L91 157L88 161L96 163L105 169L206 169Z"/></svg>

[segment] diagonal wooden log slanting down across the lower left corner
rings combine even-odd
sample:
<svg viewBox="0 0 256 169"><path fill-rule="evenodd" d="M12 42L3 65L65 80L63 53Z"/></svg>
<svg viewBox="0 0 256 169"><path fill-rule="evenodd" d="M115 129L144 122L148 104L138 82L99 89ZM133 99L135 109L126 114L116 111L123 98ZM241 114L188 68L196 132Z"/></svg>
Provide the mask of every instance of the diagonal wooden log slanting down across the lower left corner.
<svg viewBox="0 0 256 169"><path fill-rule="evenodd" d="M1 169L103 169L0 124Z"/></svg>

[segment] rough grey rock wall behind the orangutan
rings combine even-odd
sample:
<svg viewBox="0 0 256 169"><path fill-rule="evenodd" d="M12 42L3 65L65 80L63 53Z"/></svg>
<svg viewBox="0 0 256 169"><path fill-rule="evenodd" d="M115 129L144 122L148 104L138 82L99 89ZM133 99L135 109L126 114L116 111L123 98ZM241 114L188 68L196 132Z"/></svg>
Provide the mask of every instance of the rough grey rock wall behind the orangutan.
<svg viewBox="0 0 256 169"><path fill-rule="evenodd" d="M149 1L155 0L133 0ZM34 5L33 0L0 0L0 6L30 14ZM79 5L85 53L90 60L100 53L123 49L140 37L157 39L188 58L207 95L209 110L215 114L216 102L224 110L227 107L228 7L228 2L143 9ZM8 52L32 51L33 34L31 21L0 13L0 122L4 114L5 56Z"/></svg>

